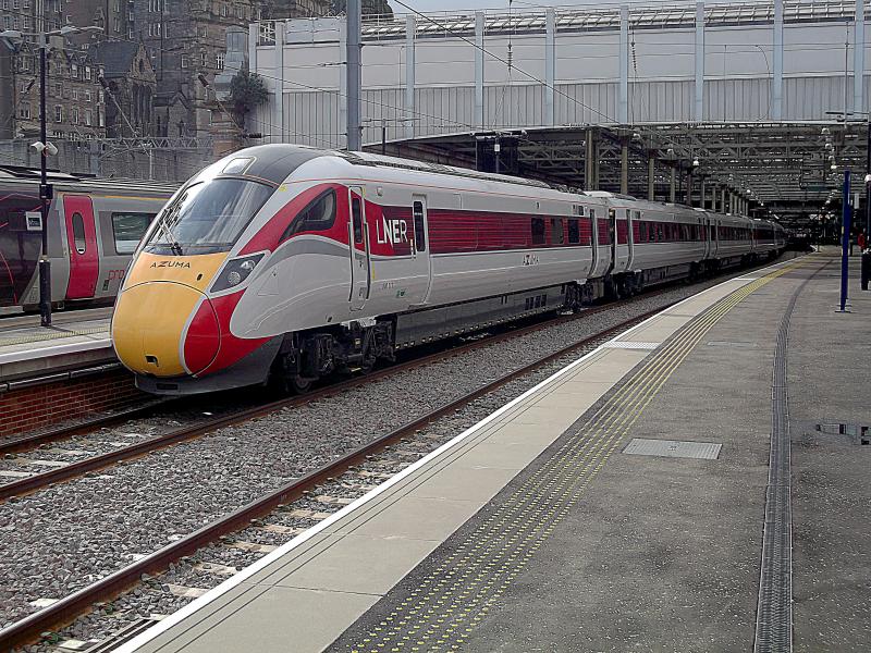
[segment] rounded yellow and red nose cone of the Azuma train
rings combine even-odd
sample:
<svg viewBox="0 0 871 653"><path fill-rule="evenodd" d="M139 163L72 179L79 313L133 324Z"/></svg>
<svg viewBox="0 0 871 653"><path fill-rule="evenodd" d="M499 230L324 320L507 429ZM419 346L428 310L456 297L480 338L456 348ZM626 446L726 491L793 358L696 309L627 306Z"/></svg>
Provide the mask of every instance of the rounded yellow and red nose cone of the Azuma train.
<svg viewBox="0 0 871 653"><path fill-rule="evenodd" d="M186 341L195 344L187 356ZM126 288L118 298L112 342L131 370L177 377L195 374L214 359L220 330L203 293L185 284L152 281Z"/></svg>

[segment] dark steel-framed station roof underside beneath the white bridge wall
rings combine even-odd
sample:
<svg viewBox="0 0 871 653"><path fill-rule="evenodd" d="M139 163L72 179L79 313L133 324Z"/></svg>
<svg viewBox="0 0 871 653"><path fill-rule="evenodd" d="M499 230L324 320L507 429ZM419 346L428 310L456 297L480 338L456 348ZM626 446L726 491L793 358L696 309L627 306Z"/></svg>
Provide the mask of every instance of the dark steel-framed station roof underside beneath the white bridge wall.
<svg viewBox="0 0 871 653"><path fill-rule="evenodd" d="M578 125L424 136L389 141L387 151L476 168L479 141L498 138L504 144L502 172L596 189L597 184L585 178L586 141L592 137L598 144L598 189L619 192L625 143L630 195L648 196L648 160L652 157L658 200L670 199L672 169L677 200L685 199L692 171L695 206L699 180L703 180L707 197L713 186L728 187L750 200L755 217L777 215L786 226L800 229L826 199L839 197L845 170L852 171L854 189L862 189L867 135L864 121ZM379 151L380 144L366 149ZM696 161L698 165L694 165Z"/></svg>

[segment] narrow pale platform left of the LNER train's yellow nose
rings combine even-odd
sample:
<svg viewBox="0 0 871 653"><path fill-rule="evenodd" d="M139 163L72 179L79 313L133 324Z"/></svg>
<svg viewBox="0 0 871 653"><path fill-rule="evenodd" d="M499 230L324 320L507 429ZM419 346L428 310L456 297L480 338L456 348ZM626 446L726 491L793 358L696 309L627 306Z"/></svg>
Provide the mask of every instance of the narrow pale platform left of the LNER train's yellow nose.
<svg viewBox="0 0 871 653"><path fill-rule="evenodd" d="M115 362L109 337L112 309L52 316L44 329L39 317L0 319L0 390L62 370Z"/></svg>

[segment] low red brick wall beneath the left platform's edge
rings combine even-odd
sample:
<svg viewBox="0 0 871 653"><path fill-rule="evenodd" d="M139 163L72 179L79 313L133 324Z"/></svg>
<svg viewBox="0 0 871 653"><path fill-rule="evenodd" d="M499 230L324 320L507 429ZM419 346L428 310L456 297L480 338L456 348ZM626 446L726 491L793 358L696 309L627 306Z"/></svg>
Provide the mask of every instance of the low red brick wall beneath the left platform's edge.
<svg viewBox="0 0 871 653"><path fill-rule="evenodd" d="M133 375L119 370L0 394L0 436L42 431L95 412L140 403Z"/></svg>

